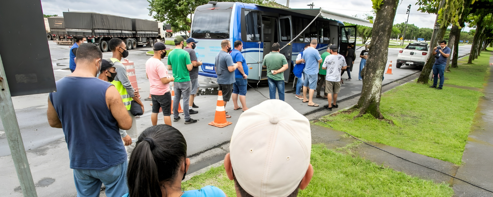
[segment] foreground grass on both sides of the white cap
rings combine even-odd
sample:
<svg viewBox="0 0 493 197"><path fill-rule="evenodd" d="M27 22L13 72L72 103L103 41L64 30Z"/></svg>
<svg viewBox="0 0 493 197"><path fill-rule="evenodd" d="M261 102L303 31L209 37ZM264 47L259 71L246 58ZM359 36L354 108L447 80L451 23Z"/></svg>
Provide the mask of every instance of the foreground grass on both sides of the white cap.
<svg viewBox="0 0 493 197"><path fill-rule="evenodd" d="M411 177L360 157L329 150L322 144L312 146L311 164L315 173L307 189L299 197L451 197L452 188ZM212 168L204 174L182 183L183 190L200 189L213 185L228 197L236 197L234 182L224 166Z"/></svg>

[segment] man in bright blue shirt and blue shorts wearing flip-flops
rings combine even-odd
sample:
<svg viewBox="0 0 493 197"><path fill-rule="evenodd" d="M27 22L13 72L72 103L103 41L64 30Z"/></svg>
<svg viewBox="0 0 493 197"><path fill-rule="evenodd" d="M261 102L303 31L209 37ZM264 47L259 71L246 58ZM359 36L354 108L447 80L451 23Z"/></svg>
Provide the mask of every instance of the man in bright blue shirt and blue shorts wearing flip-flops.
<svg viewBox="0 0 493 197"><path fill-rule="evenodd" d="M233 83L233 95L231 96L235 104L233 109L238 110L243 108L243 111L245 111L248 109L246 107L246 76L248 76L248 66L246 66L246 60L242 55L243 42L236 40L234 46L235 49L231 51L231 57L233 58L233 62L238 64L238 68L235 70L236 82ZM238 105L238 95L240 95L242 106Z"/></svg>

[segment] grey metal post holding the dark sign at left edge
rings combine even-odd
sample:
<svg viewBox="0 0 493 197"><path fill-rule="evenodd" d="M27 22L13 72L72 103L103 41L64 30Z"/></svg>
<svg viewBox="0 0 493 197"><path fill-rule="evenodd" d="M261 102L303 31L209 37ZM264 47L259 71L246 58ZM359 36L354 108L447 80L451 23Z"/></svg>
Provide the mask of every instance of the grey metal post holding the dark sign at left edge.
<svg viewBox="0 0 493 197"><path fill-rule="evenodd" d="M17 171L17 178L19 178L19 183L21 184L22 194L24 197L37 197L33 175L29 168L24 142L22 141L19 123L17 123L17 117L15 116L14 105L12 104L12 98L10 97L7 76L3 69L1 57L0 79L0 118L3 129L5 129L5 135L7 136L8 147L12 154L15 170Z"/></svg>

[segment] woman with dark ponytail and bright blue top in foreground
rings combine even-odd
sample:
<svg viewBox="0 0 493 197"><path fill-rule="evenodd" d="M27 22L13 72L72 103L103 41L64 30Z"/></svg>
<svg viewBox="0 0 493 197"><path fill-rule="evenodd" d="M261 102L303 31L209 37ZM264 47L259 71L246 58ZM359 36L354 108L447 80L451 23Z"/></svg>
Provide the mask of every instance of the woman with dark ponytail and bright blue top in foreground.
<svg viewBox="0 0 493 197"><path fill-rule="evenodd" d="M129 193L123 197L226 197L214 186L182 191L181 180L190 167L186 141L169 125L156 125L141 133L127 171Z"/></svg>

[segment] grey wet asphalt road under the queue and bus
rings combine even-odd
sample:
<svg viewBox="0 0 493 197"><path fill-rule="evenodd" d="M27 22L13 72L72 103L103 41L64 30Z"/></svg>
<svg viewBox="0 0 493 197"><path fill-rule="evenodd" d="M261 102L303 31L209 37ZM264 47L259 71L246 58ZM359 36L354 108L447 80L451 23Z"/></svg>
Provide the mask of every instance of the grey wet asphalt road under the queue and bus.
<svg viewBox="0 0 493 197"><path fill-rule="evenodd" d="M70 74L70 70L68 69L69 46L57 45L51 41L49 42L49 45L55 78L56 80L59 80ZM362 49L363 48L360 48L356 51L357 56L359 56ZM136 50L130 50L128 56L128 59L135 63L137 81L139 88L141 88L141 99L145 106L144 115L137 119L139 131L143 131L145 128L151 126L151 102L143 100L149 95L149 83L145 78L145 61L150 58L150 56L145 55L145 52L149 50L151 49L138 48ZM470 45L460 45L459 56L468 53L469 50ZM387 66L390 61L395 62L398 51L399 49L389 48ZM110 58L111 53L104 53L103 57ZM163 62L166 63L166 59L163 60ZM394 66L392 69L393 74L385 75L385 80L383 81L384 84L419 71L418 68L414 66L395 68L395 64L393 63L392 65ZM344 85L342 85L341 92L339 93L339 99L348 98L360 93L362 82L357 80L358 68L359 58L354 62L352 72L353 80L344 81ZM347 74L345 73L343 79L347 78ZM206 94L198 96L195 99L195 103L199 106L199 108L195 110L198 110L199 113L192 115L192 118L198 119L199 122L191 125L184 125L184 121L173 122L173 126L181 131L187 140L188 155L201 153L229 141L236 125L235 123L242 113L241 110L234 111L233 103L228 102L226 111L232 116L228 121L233 122L233 125L225 128L209 126L208 123L213 121L217 96L207 94L214 94L214 88L217 87L217 84L214 83L215 79L203 76L199 76L199 81L203 93ZM256 87L256 85L253 86ZM296 99L292 87L292 82L286 84L286 102L290 103L293 108L302 114L317 109L315 107L309 107L306 103L302 103L301 100ZM267 85L259 85L258 91L265 96L269 95ZM248 107L252 107L266 100L259 92L249 88L246 95ZM24 145L27 150L33 178L35 183L38 183L38 187L36 187L38 196L73 196L75 194L75 187L73 184L72 170L69 168L67 144L65 143L62 130L49 127L46 121L47 98L48 94L38 94L14 97L12 100ZM327 104L326 99L315 99L315 102L320 104L320 106ZM158 123L164 123L162 116L159 117ZM90 139L82 140L87 140L87 143L91 143ZM191 166L191 168L194 167ZM2 125L0 125L0 180L4 180L3 183L0 184L1 196L22 196L22 193L18 188L19 182L17 180Z"/></svg>

